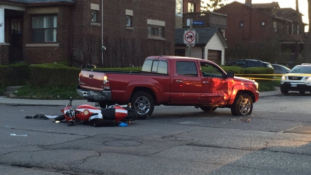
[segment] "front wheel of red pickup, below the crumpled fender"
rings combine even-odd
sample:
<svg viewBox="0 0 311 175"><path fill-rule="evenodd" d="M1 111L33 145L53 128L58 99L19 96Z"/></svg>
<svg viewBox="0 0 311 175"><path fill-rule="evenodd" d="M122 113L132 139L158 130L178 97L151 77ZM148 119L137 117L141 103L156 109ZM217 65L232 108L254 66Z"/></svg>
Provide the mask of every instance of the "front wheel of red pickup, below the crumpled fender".
<svg viewBox="0 0 311 175"><path fill-rule="evenodd" d="M253 110L253 100L248 94L237 94L231 106L232 115L250 115Z"/></svg>

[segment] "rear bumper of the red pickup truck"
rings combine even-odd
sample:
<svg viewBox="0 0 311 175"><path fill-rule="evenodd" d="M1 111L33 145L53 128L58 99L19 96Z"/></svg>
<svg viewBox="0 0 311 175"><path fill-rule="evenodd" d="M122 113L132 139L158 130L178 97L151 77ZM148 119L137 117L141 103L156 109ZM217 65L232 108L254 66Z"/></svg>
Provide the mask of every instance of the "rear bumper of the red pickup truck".
<svg viewBox="0 0 311 175"><path fill-rule="evenodd" d="M83 89L80 86L77 86L77 93L79 96L84 97L89 100L94 101L110 101L111 100L111 91L102 90L102 91L92 91L89 89Z"/></svg>

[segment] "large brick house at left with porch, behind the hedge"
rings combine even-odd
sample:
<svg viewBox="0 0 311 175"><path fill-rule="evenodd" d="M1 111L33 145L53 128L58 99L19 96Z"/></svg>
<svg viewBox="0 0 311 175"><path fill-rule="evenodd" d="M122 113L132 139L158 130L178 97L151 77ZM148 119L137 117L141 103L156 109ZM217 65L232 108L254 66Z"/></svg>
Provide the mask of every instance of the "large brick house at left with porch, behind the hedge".
<svg viewBox="0 0 311 175"><path fill-rule="evenodd" d="M0 0L0 64L139 66L150 55L174 55L175 8L163 1Z"/></svg>

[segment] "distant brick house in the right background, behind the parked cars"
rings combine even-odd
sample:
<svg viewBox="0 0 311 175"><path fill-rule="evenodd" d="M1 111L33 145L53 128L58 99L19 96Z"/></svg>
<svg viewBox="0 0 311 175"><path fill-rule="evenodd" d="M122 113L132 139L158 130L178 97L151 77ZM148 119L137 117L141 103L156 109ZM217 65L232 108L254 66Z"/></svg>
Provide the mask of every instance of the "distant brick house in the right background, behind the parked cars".
<svg viewBox="0 0 311 175"><path fill-rule="evenodd" d="M214 12L227 15L226 61L259 59L283 65L299 64L304 26L298 9L268 4L230 3Z"/></svg>

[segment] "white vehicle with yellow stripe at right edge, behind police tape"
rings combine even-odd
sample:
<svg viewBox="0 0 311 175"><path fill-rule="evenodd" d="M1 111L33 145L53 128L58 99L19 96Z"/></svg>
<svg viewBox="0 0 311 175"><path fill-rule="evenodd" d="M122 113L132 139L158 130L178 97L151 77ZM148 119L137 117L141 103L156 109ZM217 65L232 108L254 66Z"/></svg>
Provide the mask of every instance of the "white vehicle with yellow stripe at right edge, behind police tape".
<svg viewBox="0 0 311 175"><path fill-rule="evenodd" d="M299 91L300 94L306 91L311 93L311 64L297 65L283 75L280 90L283 94L287 94L288 91Z"/></svg>

